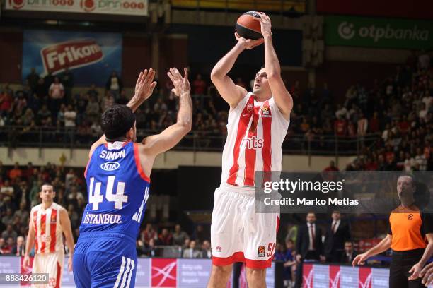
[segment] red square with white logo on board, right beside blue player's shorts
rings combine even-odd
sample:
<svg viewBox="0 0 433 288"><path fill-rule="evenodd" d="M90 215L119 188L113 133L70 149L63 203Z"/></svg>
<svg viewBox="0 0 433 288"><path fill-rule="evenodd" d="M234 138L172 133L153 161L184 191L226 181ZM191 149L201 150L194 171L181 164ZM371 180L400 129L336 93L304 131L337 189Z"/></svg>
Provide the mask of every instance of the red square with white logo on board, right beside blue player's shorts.
<svg viewBox="0 0 433 288"><path fill-rule="evenodd" d="M176 259L152 259L152 287L176 287Z"/></svg>

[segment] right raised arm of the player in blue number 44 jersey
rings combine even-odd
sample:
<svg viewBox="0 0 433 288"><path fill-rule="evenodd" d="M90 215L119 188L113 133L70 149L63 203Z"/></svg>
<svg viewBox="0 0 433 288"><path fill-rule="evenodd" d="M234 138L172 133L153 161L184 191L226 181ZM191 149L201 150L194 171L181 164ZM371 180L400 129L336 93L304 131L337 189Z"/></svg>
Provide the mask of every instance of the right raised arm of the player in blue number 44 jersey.
<svg viewBox="0 0 433 288"><path fill-rule="evenodd" d="M173 148L188 132L192 126L191 86L188 81L188 71L184 68L185 76L180 75L177 68L170 68L167 75L175 88L173 92L179 97L178 120L158 135L144 138L142 149L146 155L156 156Z"/></svg>

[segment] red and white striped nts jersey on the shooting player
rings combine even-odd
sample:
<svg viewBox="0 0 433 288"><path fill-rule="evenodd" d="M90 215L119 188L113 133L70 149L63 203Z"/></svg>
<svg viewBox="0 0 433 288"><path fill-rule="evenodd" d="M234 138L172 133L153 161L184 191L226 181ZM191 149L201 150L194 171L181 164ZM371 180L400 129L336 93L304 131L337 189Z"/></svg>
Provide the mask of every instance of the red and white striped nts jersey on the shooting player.
<svg viewBox="0 0 433 288"><path fill-rule="evenodd" d="M222 159L222 183L255 186L256 171L281 171L281 145L289 121L274 98L256 102L249 92L230 109Z"/></svg>

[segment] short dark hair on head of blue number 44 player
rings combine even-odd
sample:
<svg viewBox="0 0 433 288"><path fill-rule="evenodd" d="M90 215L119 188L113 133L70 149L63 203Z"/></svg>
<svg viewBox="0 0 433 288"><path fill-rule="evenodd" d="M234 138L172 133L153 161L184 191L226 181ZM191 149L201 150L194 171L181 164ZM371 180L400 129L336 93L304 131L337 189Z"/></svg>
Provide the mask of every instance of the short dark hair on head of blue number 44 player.
<svg viewBox="0 0 433 288"><path fill-rule="evenodd" d="M125 136L134 127L135 115L126 105L113 105L105 110L101 117L100 126L108 139Z"/></svg>

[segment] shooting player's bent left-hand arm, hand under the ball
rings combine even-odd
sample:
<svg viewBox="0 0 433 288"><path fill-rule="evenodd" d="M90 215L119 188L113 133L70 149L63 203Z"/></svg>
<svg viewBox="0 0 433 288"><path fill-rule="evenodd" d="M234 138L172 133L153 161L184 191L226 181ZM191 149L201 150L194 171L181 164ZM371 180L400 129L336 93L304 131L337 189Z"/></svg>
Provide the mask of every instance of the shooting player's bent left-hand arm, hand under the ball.
<svg viewBox="0 0 433 288"><path fill-rule="evenodd" d="M233 68L233 65L238 59L239 54L243 52L245 49L253 49L253 47L262 44L263 40L246 40L245 38L238 37L235 33L236 43L235 47L229 51L221 60L218 61L217 65L214 66L211 73L211 80L217 88L221 97L230 105L230 107L234 108L238 105L239 101L241 101L242 97L247 94L245 88L236 85L233 83L233 80L227 73Z"/></svg>

